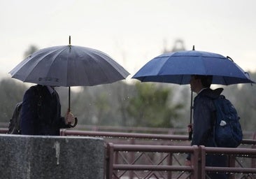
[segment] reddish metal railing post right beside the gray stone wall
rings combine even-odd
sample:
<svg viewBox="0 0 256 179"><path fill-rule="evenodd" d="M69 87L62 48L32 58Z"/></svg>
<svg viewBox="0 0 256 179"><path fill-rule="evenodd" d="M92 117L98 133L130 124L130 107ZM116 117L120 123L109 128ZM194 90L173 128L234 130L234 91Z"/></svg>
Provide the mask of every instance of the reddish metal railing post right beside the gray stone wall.
<svg viewBox="0 0 256 179"><path fill-rule="evenodd" d="M111 179L113 176L113 157L114 157L113 143L108 143L107 153L106 153L106 179Z"/></svg>

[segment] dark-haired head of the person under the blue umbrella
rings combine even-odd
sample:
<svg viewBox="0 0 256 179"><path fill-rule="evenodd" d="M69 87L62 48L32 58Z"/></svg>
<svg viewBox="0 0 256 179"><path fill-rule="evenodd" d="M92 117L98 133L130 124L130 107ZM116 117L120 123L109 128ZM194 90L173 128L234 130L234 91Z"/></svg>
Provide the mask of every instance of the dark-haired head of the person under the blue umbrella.
<svg viewBox="0 0 256 179"><path fill-rule="evenodd" d="M199 76L192 75L190 80L190 86L192 92L200 92L203 88L211 87L213 76Z"/></svg>

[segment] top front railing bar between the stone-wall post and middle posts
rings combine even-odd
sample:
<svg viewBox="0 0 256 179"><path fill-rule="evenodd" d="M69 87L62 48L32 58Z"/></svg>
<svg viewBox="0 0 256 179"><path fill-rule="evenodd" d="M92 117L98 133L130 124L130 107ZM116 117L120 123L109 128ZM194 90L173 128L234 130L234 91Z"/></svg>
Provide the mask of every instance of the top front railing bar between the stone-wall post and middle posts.
<svg viewBox="0 0 256 179"><path fill-rule="evenodd" d="M180 145L113 145L114 151L128 152L193 152L192 146Z"/></svg>

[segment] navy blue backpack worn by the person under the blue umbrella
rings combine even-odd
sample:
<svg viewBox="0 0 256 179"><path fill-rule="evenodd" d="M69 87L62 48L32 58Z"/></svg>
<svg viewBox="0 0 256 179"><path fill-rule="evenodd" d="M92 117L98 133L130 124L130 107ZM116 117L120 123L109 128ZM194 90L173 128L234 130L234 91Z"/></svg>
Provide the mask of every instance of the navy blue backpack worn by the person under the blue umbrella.
<svg viewBox="0 0 256 179"><path fill-rule="evenodd" d="M214 99L213 103L216 108L213 127L215 145L222 148L238 147L243 140L243 132L236 108L224 95Z"/></svg>

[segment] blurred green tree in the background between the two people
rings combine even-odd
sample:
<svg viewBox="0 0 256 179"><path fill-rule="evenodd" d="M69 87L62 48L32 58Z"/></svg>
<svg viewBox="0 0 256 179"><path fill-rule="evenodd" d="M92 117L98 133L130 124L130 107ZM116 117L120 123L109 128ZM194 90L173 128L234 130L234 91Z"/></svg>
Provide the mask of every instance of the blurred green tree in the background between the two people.
<svg viewBox="0 0 256 179"><path fill-rule="evenodd" d="M127 112L134 120L134 126L172 127L172 120L180 115L183 103L170 103L171 89L156 87L152 83L136 83L137 93L129 99Z"/></svg>

